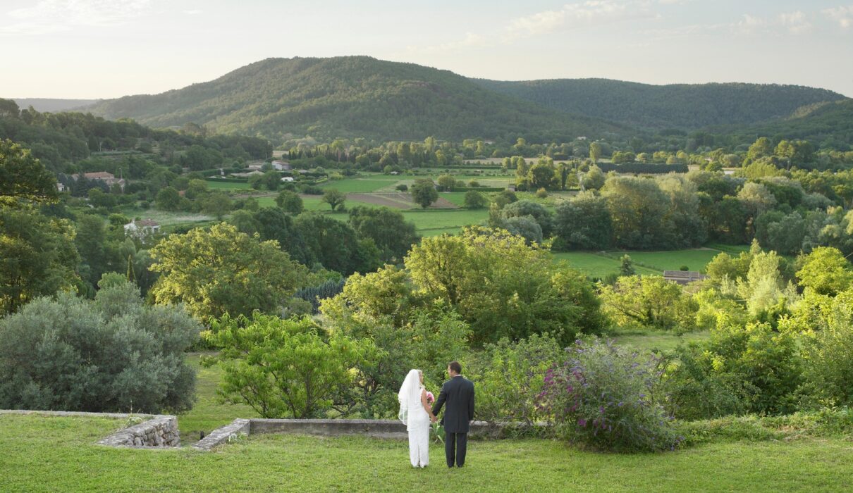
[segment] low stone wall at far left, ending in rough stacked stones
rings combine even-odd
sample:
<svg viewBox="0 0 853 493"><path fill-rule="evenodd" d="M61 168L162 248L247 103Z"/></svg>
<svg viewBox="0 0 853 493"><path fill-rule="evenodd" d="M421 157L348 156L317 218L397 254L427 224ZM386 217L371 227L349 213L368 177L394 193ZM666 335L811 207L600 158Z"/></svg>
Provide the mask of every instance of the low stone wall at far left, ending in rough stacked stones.
<svg viewBox="0 0 853 493"><path fill-rule="evenodd" d="M48 411L48 410L0 410L0 415L44 415L58 417L102 417L128 420L142 418L145 421L123 428L98 444L108 447L132 447L139 449L174 448L181 444L181 434L177 429L177 417L167 415L136 415L123 413L90 413L77 411Z"/></svg>

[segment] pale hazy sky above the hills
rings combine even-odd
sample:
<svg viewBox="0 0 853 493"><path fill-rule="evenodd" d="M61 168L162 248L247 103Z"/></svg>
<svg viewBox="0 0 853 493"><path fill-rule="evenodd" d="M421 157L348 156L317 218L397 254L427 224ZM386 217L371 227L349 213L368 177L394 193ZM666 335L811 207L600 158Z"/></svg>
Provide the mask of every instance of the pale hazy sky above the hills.
<svg viewBox="0 0 853 493"><path fill-rule="evenodd" d="M853 96L853 0L0 0L0 97L157 94L270 57L498 80L786 83Z"/></svg>

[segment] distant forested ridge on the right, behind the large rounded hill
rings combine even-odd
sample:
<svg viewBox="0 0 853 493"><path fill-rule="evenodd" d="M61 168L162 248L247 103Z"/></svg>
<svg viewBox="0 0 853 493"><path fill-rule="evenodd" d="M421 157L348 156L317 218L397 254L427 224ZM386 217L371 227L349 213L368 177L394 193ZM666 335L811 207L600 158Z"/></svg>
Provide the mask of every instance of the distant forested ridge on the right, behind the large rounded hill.
<svg viewBox="0 0 853 493"><path fill-rule="evenodd" d="M801 106L844 100L827 89L751 83L650 85L609 79L502 82L472 79L486 89L561 112L643 129L701 129L787 118Z"/></svg>

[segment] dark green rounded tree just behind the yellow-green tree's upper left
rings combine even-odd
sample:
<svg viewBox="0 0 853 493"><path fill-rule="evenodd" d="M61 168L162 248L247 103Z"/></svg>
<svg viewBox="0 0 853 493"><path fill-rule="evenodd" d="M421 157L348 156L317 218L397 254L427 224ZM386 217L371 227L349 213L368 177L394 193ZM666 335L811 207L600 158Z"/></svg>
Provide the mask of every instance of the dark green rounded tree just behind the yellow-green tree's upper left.
<svg viewBox="0 0 853 493"><path fill-rule="evenodd" d="M415 224L387 207L358 206L350 210L350 225L359 238L373 240L381 261L401 261L418 240Z"/></svg>

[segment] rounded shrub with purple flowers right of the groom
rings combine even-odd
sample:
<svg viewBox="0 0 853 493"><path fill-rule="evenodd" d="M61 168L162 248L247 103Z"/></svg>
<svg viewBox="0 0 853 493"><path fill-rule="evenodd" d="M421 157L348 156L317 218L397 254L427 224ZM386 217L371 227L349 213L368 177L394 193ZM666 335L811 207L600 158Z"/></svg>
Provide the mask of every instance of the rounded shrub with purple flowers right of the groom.
<svg viewBox="0 0 853 493"><path fill-rule="evenodd" d="M540 410L564 439L601 450L652 451L680 443L659 404L657 362L594 337L566 349L545 375Z"/></svg>

